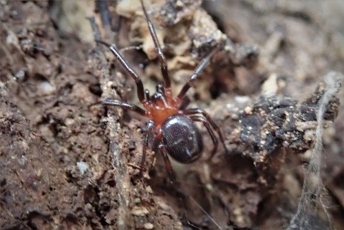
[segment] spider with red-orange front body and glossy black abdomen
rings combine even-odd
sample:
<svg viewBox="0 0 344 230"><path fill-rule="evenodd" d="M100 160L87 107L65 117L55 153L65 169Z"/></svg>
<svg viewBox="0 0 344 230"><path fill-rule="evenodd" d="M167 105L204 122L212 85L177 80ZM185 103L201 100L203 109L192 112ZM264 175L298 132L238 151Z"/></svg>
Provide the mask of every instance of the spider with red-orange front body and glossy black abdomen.
<svg viewBox="0 0 344 230"><path fill-rule="evenodd" d="M106 45L109 50L111 50L111 52L116 56L116 59L120 65L122 65L124 70L127 71L127 74L129 74L129 76L131 76L131 78L135 81L138 99L145 109L122 101L105 100L102 101L102 104L122 107L122 109L132 110L133 112L150 118L149 122L147 123L146 133L144 134L143 138L141 170L143 168L146 153L149 148L149 136L155 127L157 133L156 143L158 143L155 147L158 147L158 151L162 153L169 178L172 183L175 183L175 174L173 172L168 155L179 163L188 164L193 163L195 160L200 158L204 148L202 135L200 134L199 129L197 129L194 123L195 121L202 122L204 124L213 140L214 147L211 151L209 160L216 153L218 146L218 140L217 136L214 134L214 130L217 132L217 135L224 145L224 149L227 151L222 133L220 132L219 127L211 119L211 116L209 116L203 109L186 109L190 103L189 98L185 97L186 92L193 85L193 82L204 69L209 59L211 59L211 56L213 56L216 49L202 59L200 64L195 68L191 79L189 79L184 87L182 87L180 93L173 98L171 79L167 69L166 58L162 52L162 48L160 47L160 43L155 34L153 24L149 19L142 0L141 5L144 16L146 17L148 23L149 32L155 44L155 50L158 53L164 84L159 83L156 85L156 92L151 96L149 94L149 90L144 90L144 86L140 77L138 74L136 74L133 68L129 66L127 61L125 61L118 49L109 43L96 40L96 42Z"/></svg>

